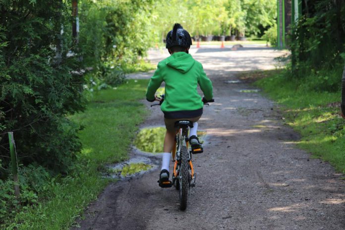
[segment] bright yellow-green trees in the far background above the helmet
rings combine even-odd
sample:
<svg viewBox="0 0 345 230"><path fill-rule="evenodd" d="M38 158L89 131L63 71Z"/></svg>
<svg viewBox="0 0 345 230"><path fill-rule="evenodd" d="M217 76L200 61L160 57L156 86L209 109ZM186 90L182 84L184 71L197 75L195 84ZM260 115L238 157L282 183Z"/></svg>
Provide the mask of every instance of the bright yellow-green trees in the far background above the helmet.
<svg viewBox="0 0 345 230"><path fill-rule="evenodd" d="M160 40L175 22L192 36L244 36L262 33L277 17L276 0L159 0L154 8L152 25Z"/></svg>

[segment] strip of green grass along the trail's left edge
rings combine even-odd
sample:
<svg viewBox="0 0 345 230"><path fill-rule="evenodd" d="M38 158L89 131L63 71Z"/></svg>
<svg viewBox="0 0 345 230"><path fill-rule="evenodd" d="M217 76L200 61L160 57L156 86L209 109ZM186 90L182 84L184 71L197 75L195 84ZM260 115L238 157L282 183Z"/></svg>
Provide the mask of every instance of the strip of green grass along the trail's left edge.
<svg viewBox="0 0 345 230"><path fill-rule="evenodd" d="M46 186L41 202L17 210L14 220L0 229L67 230L85 207L109 183L99 169L106 163L126 159L128 146L147 115L138 102L144 98L148 80L129 80L117 89L101 90L91 98L84 113L70 119L84 126L79 136L83 150L66 177L56 177ZM40 197L40 194L38 194Z"/></svg>

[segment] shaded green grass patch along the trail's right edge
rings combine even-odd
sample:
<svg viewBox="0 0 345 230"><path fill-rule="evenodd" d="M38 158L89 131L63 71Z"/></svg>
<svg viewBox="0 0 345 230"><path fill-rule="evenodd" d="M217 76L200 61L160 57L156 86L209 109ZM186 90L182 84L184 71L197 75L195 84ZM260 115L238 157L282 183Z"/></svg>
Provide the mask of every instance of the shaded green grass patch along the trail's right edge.
<svg viewBox="0 0 345 230"><path fill-rule="evenodd" d="M288 78L286 73L263 73L267 77L254 84L281 105L287 124L301 134L297 146L345 173L345 121L340 116L340 90L312 90L305 81Z"/></svg>

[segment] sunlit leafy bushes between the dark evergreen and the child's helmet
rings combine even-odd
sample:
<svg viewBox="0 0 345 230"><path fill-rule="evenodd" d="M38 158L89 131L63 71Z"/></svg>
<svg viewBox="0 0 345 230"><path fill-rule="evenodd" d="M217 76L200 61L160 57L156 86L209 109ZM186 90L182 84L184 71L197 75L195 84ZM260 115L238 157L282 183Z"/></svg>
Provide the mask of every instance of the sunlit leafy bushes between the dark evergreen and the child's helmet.
<svg viewBox="0 0 345 230"><path fill-rule="evenodd" d="M98 86L122 83L121 71L137 65L152 46L151 5L151 0L81 1L79 42Z"/></svg>

